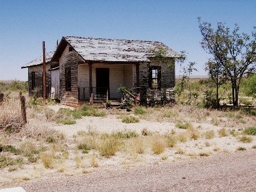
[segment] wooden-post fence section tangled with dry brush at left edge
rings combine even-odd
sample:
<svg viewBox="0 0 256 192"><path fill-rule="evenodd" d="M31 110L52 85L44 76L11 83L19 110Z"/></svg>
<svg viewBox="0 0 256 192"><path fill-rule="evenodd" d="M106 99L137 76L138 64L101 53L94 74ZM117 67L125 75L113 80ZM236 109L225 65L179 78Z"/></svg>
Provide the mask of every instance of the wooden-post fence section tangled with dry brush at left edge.
<svg viewBox="0 0 256 192"><path fill-rule="evenodd" d="M10 132L19 132L27 123L26 98L21 94L19 97L9 97L0 94L0 129Z"/></svg>

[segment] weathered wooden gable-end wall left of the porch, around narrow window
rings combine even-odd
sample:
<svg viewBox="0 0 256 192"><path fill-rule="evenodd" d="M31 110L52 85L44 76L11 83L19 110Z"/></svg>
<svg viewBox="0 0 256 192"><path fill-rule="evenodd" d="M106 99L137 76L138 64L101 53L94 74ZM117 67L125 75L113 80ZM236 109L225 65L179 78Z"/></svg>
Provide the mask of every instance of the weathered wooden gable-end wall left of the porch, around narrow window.
<svg viewBox="0 0 256 192"><path fill-rule="evenodd" d="M76 104L78 103L78 64L81 62L81 57L73 50L69 51L69 46L66 47L64 52L59 59L59 70L60 70L60 80L61 80L61 103L62 104ZM65 69L70 67L71 69L71 91L66 91L66 79L65 79Z"/></svg>

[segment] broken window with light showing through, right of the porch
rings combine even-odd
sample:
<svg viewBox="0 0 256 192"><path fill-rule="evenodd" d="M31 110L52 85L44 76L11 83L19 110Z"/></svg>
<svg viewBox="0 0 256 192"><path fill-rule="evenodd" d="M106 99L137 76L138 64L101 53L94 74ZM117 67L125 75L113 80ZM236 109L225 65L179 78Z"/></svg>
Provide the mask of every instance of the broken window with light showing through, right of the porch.
<svg viewBox="0 0 256 192"><path fill-rule="evenodd" d="M160 89L161 87L161 67L151 66L149 67L149 88Z"/></svg>

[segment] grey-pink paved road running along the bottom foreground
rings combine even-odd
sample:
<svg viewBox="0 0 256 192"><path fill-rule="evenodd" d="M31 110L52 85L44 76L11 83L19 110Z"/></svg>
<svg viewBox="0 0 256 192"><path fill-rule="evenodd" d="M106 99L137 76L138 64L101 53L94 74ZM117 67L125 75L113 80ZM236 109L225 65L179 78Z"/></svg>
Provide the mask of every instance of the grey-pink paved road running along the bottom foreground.
<svg viewBox="0 0 256 192"><path fill-rule="evenodd" d="M256 150L19 186L26 191L256 191Z"/></svg>

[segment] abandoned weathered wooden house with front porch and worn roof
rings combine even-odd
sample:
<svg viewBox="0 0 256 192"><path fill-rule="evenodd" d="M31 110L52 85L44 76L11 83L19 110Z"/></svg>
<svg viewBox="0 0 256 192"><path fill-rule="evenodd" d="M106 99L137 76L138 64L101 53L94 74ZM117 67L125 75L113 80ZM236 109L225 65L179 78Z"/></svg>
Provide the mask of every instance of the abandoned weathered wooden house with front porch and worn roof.
<svg viewBox="0 0 256 192"><path fill-rule="evenodd" d="M165 58L173 64L172 67L155 59L155 52L159 49L165 50ZM67 36L62 37L52 55L48 77L54 84L59 84L57 95L66 105L77 105L83 101L121 100L123 95L117 92L121 85L133 89L133 93L140 94L140 98L145 90L153 97L164 94L170 98L169 90L175 85L174 58L179 56L161 42ZM36 72L33 76L31 66L34 64L23 66L29 68L29 90L37 86L37 78L42 77L40 72L38 77ZM54 71L59 73L59 82L52 79L57 77L57 74L51 75ZM49 90L56 92L58 89L53 89L54 86L51 83Z"/></svg>

